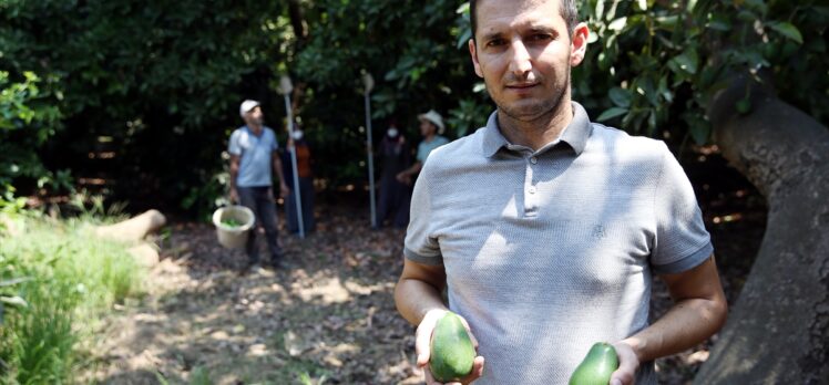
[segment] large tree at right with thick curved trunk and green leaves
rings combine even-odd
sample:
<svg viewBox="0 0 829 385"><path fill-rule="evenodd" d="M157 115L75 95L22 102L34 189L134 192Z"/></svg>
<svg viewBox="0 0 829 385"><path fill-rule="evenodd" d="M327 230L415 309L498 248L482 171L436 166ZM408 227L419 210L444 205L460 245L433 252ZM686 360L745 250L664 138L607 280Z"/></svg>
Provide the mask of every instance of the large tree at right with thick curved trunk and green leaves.
<svg viewBox="0 0 829 385"><path fill-rule="evenodd" d="M575 98L598 121L718 146L768 200L751 273L699 384L829 379L829 8L818 1L587 1Z"/></svg>

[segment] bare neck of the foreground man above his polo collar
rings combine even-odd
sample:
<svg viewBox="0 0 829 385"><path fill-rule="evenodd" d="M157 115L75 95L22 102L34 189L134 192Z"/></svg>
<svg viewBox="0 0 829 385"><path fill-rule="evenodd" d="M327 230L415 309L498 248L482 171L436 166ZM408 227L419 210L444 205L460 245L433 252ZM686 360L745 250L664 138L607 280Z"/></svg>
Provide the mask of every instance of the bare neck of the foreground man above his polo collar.
<svg viewBox="0 0 829 385"><path fill-rule="evenodd" d="M536 150L555 141L573 121L573 105L570 100L562 100L555 111L532 121L519 121L498 111L498 126L501 135L514 145L521 145Z"/></svg>

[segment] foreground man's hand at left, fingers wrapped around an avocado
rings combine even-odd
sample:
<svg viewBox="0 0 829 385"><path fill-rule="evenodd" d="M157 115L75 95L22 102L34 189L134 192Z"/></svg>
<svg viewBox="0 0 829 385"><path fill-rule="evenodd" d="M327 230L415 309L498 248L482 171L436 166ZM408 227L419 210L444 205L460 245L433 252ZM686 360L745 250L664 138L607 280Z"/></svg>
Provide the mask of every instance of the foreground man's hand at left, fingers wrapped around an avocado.
<svg viewBox="0 0 829 385"><path fill-rule="evenodd" d="M448 310L442 309L433 309L426 313L423 316L423 320L420 321L420 324L418 325L418 330L415 334L415 352L418 356L417 358L417 365L418 367L423 370L423 373L426 374L426 384L427 385L440 385L441 383L437 382L434 377L432 377L432 373L429 371L429 355L431 352L431 340L432 340L432 332L434 332L434 326L438 324L438 321L443 318L443 315L448 312ZM469 329L469 323L467 323L467 320L464 320L460 314L458 315L461 319L461 322L463 322L463 326L467 327L467 333L469 333L469 337L472 340L472 344L475 347L475 351L478 351L478 340L475 340L474 335L472 335L472 331ZM471 384L473 381L480 378L483 375L483 357L477 356L473 364L472 364L472 372L467 375L465 377L461 378L460 382L452 382L447 383L446 385L467 385Z"/></svg>

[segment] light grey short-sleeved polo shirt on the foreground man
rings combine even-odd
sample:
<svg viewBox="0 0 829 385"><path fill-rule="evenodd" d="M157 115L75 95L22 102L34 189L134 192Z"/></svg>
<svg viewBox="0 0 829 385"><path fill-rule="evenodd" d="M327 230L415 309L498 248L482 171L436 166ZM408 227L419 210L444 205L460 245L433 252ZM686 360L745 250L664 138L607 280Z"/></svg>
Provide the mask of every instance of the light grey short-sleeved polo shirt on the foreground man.
<svg viewBox="0 0 829 385"><path fill-rule="evenodd" d="M487 360L475 384L565 384L598 341L647 326L652 273L713 252L688 178L664 143L574 116L559 141L487 127L429 156L406 257L442 264L449 306ZM655 384L643 363L636 384Z"/></svg>

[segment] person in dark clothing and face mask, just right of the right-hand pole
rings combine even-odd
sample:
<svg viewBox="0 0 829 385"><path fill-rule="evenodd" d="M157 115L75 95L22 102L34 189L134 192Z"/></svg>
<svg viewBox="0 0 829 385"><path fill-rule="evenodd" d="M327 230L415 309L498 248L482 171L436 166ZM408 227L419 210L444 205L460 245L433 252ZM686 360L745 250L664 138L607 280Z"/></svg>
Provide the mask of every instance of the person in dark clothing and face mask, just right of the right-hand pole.
<svg viewBox="0 0 829 385"><path fill-rule="evenodd" d="M405 228L409 225L409 200L411 185L398 180L397 175L411 164L411 150L406 138L391 123L380 142L378 155L382 165L380 174L380 201L377 208L377 226L389 219L391 226Z"/></svg>

